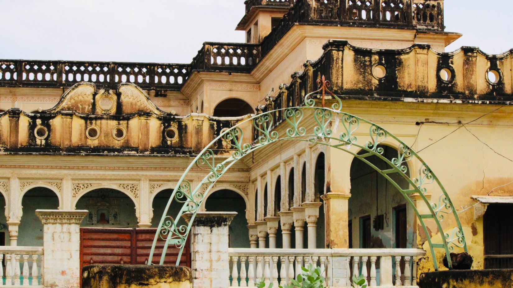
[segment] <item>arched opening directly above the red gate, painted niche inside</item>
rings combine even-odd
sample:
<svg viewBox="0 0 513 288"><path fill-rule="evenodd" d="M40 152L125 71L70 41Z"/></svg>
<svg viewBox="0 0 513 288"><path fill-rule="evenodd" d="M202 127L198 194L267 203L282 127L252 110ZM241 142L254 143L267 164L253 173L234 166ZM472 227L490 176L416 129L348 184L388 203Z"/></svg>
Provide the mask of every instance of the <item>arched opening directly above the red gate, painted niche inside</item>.
<svg viewBox="0 0 513 288"><path fill-rule="evenodd" d="M78 199L75 207L89 211L81 227L137 228L135 204L121 191L110 188L91 190Z"/></svg>

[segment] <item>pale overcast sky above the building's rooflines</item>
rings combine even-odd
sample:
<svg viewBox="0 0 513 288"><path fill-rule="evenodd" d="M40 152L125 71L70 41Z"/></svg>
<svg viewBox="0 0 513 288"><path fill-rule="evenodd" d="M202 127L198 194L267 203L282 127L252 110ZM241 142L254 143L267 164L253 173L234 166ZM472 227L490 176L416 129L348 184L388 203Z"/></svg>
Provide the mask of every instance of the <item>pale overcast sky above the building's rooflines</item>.
<svg viewBox="0 0 513 288"><path fill-rule="evenodd" d="M0 0L0 58L190 63L205 41L234 31L244 0ZM445 0L447 51L513 48L512 0Z"/></svg>

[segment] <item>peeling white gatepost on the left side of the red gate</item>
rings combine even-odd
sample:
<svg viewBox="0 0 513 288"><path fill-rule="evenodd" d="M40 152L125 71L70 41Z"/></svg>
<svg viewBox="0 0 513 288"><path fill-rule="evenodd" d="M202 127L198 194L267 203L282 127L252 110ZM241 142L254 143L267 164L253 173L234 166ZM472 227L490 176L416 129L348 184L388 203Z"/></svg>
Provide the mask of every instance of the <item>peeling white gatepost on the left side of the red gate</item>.
<svg viewBox="0 0 513 288"><path fill-rule="evenodd" d="M80 223L87 210L36 210L43 222L44 286L80 286Z"/></svg>

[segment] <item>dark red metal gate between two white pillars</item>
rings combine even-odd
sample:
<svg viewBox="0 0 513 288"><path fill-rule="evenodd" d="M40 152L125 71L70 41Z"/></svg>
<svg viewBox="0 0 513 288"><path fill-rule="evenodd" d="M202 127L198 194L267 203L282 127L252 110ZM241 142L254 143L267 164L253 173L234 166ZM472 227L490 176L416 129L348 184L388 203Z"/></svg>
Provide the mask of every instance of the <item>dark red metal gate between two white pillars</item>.
<svg viewBox="0 0 513 288"><path fill-rule="evenodd" d="M80 228L80 269L89 264L145 264L148 262L155 228ZM164 241L159 239L155 260L160 260ZM170 245L165 265L174 265L179 249ZM180 265L191 266L189 241Z"/></svg>

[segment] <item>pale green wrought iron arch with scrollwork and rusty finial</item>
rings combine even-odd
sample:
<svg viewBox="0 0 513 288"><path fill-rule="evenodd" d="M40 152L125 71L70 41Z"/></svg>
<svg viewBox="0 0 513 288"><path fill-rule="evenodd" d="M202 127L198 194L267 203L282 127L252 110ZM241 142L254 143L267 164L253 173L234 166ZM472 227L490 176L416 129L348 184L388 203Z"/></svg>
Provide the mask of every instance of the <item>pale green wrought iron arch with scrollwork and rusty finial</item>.
<svg viewBox="0 0 513 288"><path fill-rule="evenodd" d="M427 231L425 220L431 219L436 223L437 228L440 231L441 241L433 243L431 238L427 238L429 250L432 256L431 259L433 261L435 270L438 270L438 261L436 258L435 249L445 250L449 267L452 266L449 253L453 251L455 246L463 248L465 252L468 252L465 236L458 214L456 213L456 209L454 209L449 195L447 194L445 188L442 186L442 183L435 175L435 173L433 173L433 171L429 168L426 162L408 145L406 145L406 143L401 141L398 137L394 136L392 133L385 130L381 126L358 116L343 112L341 110L342 100L337 95L334 95L326 89L329 87L329 81L325 81L324 77L318 80L318 85L320 87L319 90L311 92L305 96L304 106L267 111L243 120L229 130L221 133L218 137L212 140L212 142L210 142L210 144L205 147L198 154L198 156L194 158L194 160L189 164L189 167L185 173L178 181L178 184L173 190L173 193L171 194L171 197L167 203L166 209L159 224L159 228L157 229L155 238L153 240L153 246L148 258L149 264L152 263L153 252L157 239L161 237L166 241L166 243L162 251L160 264L163 264L168 245L174 244L177 248L180 248L180 253L176 262L176 264L179 265L185 240L187 239L189 231L194 222L194 217L201 207L202 201L204 200L204 193L207 193L215 184L215 182L244 155L250 154L251 152L265 147L271 143L286 140L307 141L309 143L325 145L331 148L342 150L344 152L350 153L353 155L353 157L359 158L369 167L373 168L382 176L384 176L406 198L406 202L413 208L413 211L415 211L426 235L429 235L429 233ZM331 95L331 101L333 104L330 108L324 107L325 92L328 92ZM319 97L322 97L322 107L315 105L314 98ZM286 122L284 121L282 125L288 124L286 127L287 129L285 129L285 133L282 135L273 130L275 127L273 124L273 113L277 111L283 111L285 113L284 118ZM301 126L303 117L306 115L305 112L311 113L311 115L308 116L313 117L313 120L315 121L314 127L312 129L307 129ZM249 123L252 124L253 129L257 130L256 139L244 142L243 128ZM332 124L333 126L331 126ZM336 135L339 126L342 132ZM362 133L362 130L366 131L366 133ZM361 135L366 135L367 138L362 140L361 138L363 137ZM229 145L233 148L233 151L226 160L217 163L211 146L214 145L214 143L219 139L223 139L223 141L229 143ZM385 139L389 141L393 140L394 142L398 143L398 155L391 160L382 155L384 149L379 146L385 141ZM351 146L363 149L367 153L358 154L357 152L353 152L350 150ZM375 155L385 161L387 163L388 169L382 170L369 162L366 157L371 155ZM418 174L410 171L410 173L408 173L409 175L407 175L406 172L408 171L408 166L406 165L406 162L413 160L418 161L419 163ZM186 179L189 170L193 166L198 166L199 168L205 169L207 171L206 176L195 187L192 187L191 183ZM390 174L392 173L397 173L400 175L409 183L410 187L408 189L401 188L399 184L390 177ZM269 181L269 179L267 179L267 181ZM208 188L204 192L202 191L203 184L208 185ZM438 203L430 203L426 198L425 194L427 193L428 188L436 188L440 190ZM413 193L418 193L420 195L423 202L427 206L429 214L421 214L419 210L417 210L415 204L408 196L409 194ZM172 216L167 216L167 212L173 199L183 203L180 213L175 218ZM192 214L190 217L190 222L187 225L179 226L177 224L178 220L184 213ZM451 234L443 232L444 230L442 229L440 222L444 220L445 216L452 216L456 222L457 227L453 228Z"/></svg>

